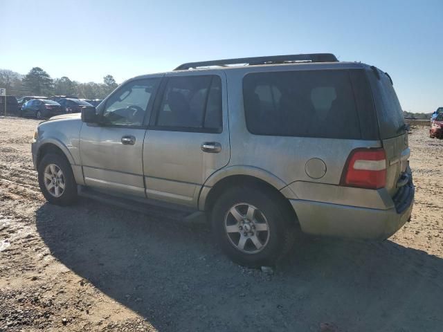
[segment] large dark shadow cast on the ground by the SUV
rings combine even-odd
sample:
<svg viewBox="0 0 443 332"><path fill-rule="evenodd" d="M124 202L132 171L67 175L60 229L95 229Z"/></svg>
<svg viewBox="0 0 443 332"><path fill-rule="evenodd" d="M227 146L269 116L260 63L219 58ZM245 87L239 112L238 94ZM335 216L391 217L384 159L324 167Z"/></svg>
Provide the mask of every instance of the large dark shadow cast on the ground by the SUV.
<svg viewBox="0 0 443 332"><path fill-rule="evenodd" d="M206 225L167 215L83 199L42 205L37 230L62 264L159 331L443 329L443 260L392 241L300 237L266 275L231 263Z"/></svg>

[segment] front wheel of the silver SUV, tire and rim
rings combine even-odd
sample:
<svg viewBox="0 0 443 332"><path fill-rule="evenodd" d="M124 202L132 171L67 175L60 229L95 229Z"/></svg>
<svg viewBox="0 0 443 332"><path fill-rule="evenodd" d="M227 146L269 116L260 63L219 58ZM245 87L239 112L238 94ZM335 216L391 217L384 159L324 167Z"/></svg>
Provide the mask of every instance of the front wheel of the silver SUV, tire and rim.
<svg viewBox="0 0 443 332"><path fill-rule="evenodd" d="M51 176L51 174L60 174L60 170L61 176ZM48 176L55 177L55 180L51 181ZM38 178L40 190L49 203L71 205L77 201L77 183L75 183L71 165L64 156L46 154L38 165Z"/></svg>

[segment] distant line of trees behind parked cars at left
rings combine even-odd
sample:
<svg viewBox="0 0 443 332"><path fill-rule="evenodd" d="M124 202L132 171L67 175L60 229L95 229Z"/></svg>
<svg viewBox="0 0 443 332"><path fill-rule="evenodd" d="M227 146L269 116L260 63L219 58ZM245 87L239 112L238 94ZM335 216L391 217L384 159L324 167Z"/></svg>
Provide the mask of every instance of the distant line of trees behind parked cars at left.
<svg viewBox="0 0 443 332"><path fill-rule="evenodd" d="M42 68L34 67L26 75L0 69L0 88L8 95L72 95L77 98L103 99L114 91L118 84L112 75L103 77L102 83L80 83L63 76L51 78Z"/></svg>

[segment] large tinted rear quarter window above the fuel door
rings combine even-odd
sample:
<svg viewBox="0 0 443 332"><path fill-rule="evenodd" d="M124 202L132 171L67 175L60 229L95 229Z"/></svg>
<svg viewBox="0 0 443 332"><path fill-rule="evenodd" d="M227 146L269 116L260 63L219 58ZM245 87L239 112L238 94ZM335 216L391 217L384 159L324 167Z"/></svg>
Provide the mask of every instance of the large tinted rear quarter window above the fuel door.
<svg viewBox="0 0 443 332"><path fill-rule="evenodd" d="M347 71L251 73L243 95L251 133L361 138Z"/></svg>

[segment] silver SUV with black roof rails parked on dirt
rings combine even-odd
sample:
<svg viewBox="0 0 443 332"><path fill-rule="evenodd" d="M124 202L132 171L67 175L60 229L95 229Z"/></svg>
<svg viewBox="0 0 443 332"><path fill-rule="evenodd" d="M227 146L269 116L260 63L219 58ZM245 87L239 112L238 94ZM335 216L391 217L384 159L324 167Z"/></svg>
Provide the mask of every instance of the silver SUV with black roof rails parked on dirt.
<svg viewBox="0 0 443 332"><path fill-rule="evenodd" d="M245 266L274 264L298 230L386 239L413 208L390 76L332 54L134 77L81 116L39 124L32 151L50 203L80 193L206 214Z"/></svg>

